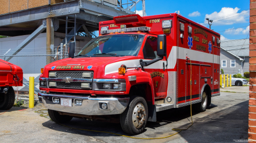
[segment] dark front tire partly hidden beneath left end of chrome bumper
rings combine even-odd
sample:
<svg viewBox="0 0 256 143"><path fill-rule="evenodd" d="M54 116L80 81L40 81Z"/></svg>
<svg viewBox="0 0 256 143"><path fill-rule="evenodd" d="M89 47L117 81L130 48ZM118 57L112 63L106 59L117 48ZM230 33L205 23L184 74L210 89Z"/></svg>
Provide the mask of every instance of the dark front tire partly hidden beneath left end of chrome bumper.
<svg viewBox="0 0 256 143"><path fill-rule="evenodd" d="M73 117L68 115L60 115L58 111L48 109L49 117L55 123L68 123Z"/></svg>

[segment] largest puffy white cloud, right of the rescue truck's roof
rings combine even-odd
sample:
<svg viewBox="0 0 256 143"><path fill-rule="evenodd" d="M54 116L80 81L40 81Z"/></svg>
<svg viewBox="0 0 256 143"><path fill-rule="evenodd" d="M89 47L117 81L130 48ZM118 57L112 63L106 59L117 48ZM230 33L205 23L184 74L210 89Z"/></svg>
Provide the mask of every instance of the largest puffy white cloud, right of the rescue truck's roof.
<svg viewBox="0 0 256 143"><path fill-rule="evenodd" d="M222 8L220 12L214 12L211 14L206 14L205 18L214 20L212 23L214 25L231 25L234 23L243 23L247 22L246 17L249 16L249 10L242 11L238 13L239 8ZM204 23L208 23L205 21Z"/></svg>

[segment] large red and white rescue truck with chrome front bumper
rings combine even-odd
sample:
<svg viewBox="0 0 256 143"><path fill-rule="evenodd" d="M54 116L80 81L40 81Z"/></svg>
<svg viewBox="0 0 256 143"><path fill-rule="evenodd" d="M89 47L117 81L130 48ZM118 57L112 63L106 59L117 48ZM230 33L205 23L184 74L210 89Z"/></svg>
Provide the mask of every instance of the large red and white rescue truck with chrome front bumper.
<svg viewBox="0 0 256 143"><path fill-rule="evenodd" d="M190 105L190 95L200 111L220 95L220 34L176 13L118 16L99 30L40 76L38 98L54 122L120 122L139 134L156 112Z"/></svg>

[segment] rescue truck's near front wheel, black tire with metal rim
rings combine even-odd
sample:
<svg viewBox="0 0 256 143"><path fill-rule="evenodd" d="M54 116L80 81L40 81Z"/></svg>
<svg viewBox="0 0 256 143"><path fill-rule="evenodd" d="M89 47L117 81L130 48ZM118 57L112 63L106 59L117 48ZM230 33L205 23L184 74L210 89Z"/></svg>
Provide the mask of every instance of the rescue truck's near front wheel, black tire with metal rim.
<svg viewBox="0 0 256 143"><path fill-rule="evenodd" d="M127 134L140 134L146 127L148 108L143 97L133 97L120 115L122 130Z"/></svg>

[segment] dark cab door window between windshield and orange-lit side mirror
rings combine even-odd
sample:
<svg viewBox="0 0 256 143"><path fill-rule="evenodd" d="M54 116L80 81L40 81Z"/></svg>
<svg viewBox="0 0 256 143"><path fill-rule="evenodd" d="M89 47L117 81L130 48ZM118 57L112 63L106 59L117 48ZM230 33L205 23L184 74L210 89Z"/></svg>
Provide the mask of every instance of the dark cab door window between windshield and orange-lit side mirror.
<svg viewBox="0 0 256 143"><path fill-rule="evenodd" d="M157 55L157 38L149 36L146 39L144 48L143 48L144 59L156 59L159 56Z"/></svg>

